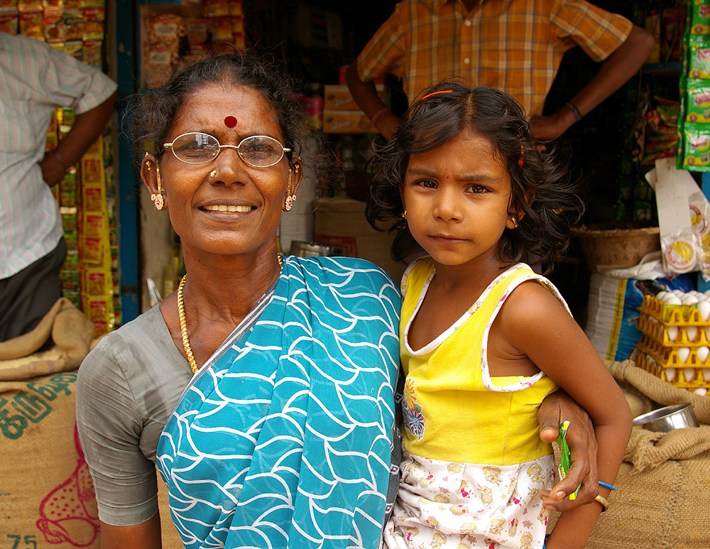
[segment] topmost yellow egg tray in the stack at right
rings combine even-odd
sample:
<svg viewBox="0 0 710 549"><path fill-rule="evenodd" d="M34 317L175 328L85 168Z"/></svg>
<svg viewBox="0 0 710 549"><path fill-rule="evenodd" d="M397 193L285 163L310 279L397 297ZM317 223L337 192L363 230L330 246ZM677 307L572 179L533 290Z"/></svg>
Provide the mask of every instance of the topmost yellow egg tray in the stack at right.
<svg viewBox="0 0 710 549"><path fill-rule="evenodd" d="M668 305L645 295L638 308L638 329L664 347L710 347L710 318L695 305Z"/></svg>

